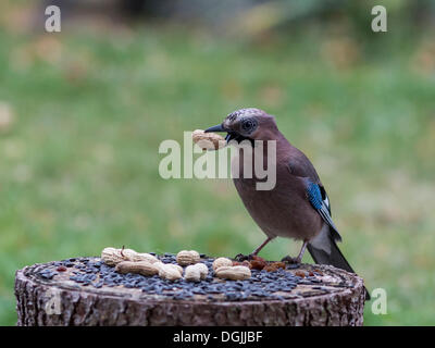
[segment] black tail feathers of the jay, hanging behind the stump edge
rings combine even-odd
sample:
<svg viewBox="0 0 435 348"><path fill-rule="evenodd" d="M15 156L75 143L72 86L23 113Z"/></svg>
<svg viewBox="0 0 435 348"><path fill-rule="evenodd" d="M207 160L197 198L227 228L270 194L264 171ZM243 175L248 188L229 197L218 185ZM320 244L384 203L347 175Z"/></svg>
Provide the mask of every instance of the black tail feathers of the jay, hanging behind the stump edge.
<svg viewBox="0 0 435 348"><path fill-rule="evenodd" d="M321 234L322 233L324 233L324 231L322 231ZM328 244L328 246L325 246L325 244ZM349 262L347 262L346 258L343 256L340 249L338 249L338 246L334 240L333 236L331 235L330 231L327 231L323 236L322 245L324 246L323 248L319 248L318 243L309 243L307 246L308 251L310 252L315 263L331 264L337 269L355 273ZM365 289L365 299L370 300L370 294L365 287L364 289Z"/></svg>

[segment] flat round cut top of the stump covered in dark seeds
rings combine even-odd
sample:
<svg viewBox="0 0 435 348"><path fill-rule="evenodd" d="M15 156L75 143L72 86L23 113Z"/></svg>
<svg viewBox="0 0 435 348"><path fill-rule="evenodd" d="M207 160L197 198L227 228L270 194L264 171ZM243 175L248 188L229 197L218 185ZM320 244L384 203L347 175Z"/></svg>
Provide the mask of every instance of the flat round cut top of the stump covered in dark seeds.
<svg viewBox="0 0 435 348"><path fill-rule="evenodd" d="M171 257L162 256L164 261ZM209 276L199 283L175 282L158 276L119 274L99 258L74 258L34 264L17 271L17 279L42 287L120 297L139 302L164 301L177 303L247 303L265 301L303 301L334 297L363 288L356 274L328 265L288 265L286 270L266 272L252 270L247 281L222 281L213 277L212 258L201 258L209 266Z"/></svg>

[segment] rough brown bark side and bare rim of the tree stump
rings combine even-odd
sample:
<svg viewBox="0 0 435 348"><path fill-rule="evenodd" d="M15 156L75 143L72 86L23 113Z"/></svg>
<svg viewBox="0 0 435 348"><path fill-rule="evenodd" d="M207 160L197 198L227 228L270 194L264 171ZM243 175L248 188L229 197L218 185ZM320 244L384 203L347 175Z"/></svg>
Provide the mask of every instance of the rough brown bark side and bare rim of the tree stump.
<svg viewBox="0 0 435 348"><path fill-rule="evenodd" d="M298 285L284 299L227 301L201 296L175 300L137 288L84 286L70 281L73 269L51 279L40 276L41 270L54 264L35 264L16 272L17 325L360 326L363 323L362 278L327 265L300 265L299 271L321 272L320 283Z"/></svg>

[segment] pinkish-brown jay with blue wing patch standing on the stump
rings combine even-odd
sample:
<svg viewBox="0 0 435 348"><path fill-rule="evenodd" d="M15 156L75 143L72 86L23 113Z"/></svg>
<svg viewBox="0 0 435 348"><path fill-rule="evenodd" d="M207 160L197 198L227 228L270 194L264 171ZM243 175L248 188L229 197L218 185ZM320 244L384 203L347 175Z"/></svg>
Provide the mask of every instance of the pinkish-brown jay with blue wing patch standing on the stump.
<svg viewBox="0 0 435 348"><path fill-rule="evenodd" d="M235 167L239 171L239 175L233 175L234 185L246 209L268 237L248 258L257 256L275 237L287 237L303 240L303 244L296 258L286 257L284 261L300 263L307 248L316 263L355 273L337 247L336 241L341 237L331 217L330 200L314 166L278 130L274 116L260 109L241 109L206 132L226 132L228 142L249 140L254 146L256 141L262 141L265 156L268 141L276 141L276 184L272 189L257 188L259 178L254 171L251 177L244 177L244 164L253 166L253 151L248 154L252 157L250 162L245 161L243 148L232 160L232 171ZM368 291L366 298L370 298Z"/></svg>

